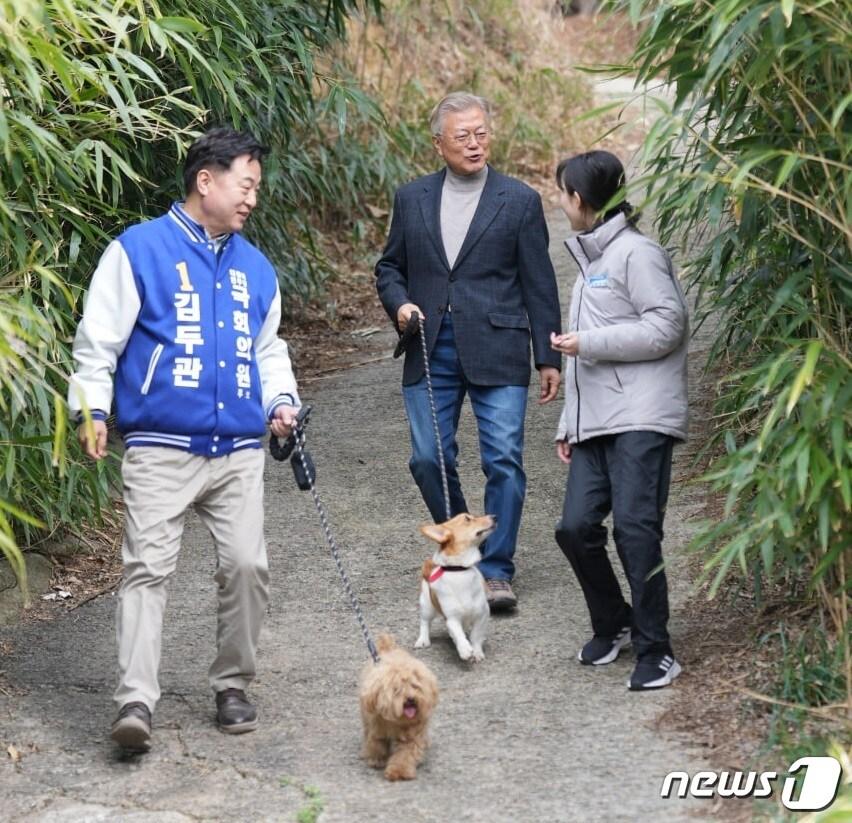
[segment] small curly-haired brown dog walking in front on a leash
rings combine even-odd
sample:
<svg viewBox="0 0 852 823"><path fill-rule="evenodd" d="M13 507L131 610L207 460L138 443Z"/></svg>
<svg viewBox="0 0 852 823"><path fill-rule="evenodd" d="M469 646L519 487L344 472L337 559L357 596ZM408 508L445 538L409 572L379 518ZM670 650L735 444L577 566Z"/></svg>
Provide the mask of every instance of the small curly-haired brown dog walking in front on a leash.
<svg viewBox="0 0 852 823"><path fill-rule="evenodd" d="M413 780L429 740L426 729L438 702L435 675L389 634L376 643L380 660L361 674L362 757L388 780Z"/></svg>

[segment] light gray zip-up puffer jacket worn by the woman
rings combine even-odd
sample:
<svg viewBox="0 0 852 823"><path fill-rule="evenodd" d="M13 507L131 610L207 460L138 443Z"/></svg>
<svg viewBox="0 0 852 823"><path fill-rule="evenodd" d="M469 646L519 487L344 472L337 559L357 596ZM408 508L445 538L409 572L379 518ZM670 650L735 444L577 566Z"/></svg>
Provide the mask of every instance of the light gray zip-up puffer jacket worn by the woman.
<svg viewBox="0 0 852 823"><path fill-rule="evenodd" d="M665 250L618 214L565 241L580 267L557 440L626 431L686 440L686 299Z"/></svg>

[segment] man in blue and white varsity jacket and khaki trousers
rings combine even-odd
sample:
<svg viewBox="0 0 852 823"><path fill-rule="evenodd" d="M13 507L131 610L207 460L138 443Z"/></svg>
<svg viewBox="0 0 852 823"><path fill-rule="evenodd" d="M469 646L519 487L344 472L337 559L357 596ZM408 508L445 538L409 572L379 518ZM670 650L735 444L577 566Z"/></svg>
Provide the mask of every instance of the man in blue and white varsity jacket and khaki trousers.
<svg viewBox="0 0 852 823"><path fill-rule="evenodd" d="M107 247L74 340L69 405L78 419L84 408L92 416L79 429L83 448L106 456L113 399L125 445L112 738L128 751L151 745L166 583L190 506L217 552L218 726L231 734L257 726L245 689L268 600L260 438L267 423L288 436L299 407L278 337L278 279L240 235L264 153L247 133L203 135L187 154L186 201Z"/></svg>

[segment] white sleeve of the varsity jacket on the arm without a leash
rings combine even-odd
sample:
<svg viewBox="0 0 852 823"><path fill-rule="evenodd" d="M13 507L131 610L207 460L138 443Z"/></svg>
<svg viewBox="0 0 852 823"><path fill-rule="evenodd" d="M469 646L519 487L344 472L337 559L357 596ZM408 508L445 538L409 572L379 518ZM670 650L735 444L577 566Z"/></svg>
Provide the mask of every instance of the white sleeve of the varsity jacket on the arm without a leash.
<svg viewBox="0 0 852 823"><path fill-rule="evenodd" d="M84 405L109 413L115 366L133 331L140 307L130 260L121 243L113 240L92 275L83 317L74 337L72 354L76 370L68 384L72 414Z"/></svg>

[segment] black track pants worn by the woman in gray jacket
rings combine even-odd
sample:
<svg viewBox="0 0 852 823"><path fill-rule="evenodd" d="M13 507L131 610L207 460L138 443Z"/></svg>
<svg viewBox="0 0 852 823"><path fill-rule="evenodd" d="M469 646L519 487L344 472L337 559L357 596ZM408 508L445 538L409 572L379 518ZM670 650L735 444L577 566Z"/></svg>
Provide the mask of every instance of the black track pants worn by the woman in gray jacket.
<svg viewBox="0 0 852 823"><path fill-rule="evenodd" d="M572 446L556 542L580 581L595 635L633 630L638 657L672 654L663 560L663 517L674 438L649 431L595 437ZM613 539L630 585L624 600L606 552L602 525L612 511Z"/></svg>

